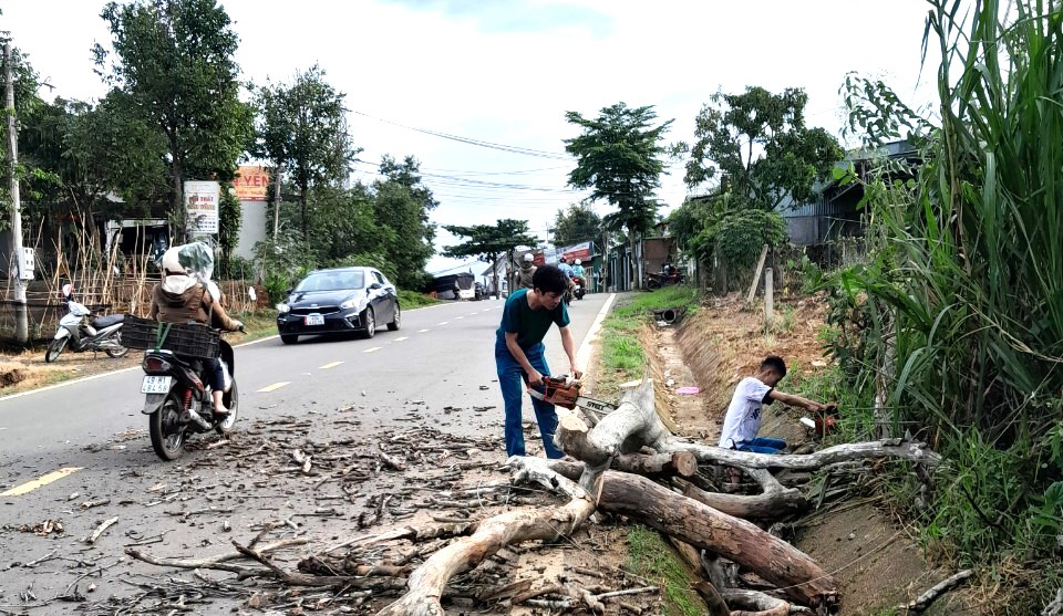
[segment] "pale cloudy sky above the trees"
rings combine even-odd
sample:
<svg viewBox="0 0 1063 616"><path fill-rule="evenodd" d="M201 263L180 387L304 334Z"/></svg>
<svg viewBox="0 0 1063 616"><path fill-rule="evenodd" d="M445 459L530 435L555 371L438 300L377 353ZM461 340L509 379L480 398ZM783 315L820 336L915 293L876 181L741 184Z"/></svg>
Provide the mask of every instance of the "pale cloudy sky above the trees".
<svg viewBox="0 0 1063 616"><path fill-rule="evenodd" d="M242 79L290 82L314 63L347 94L364 148L354 179L372 181L384 154L415 156L440 207L437 225L529 221L547 239L558 209L585 192L566 185L568 111L654 105L674 119L669 143L693 139L694 117L718 91L760 85L808 93L807 123L838 134L838 87L849 71L883 79L914 106L923 0L227 0ZM43 81L44 97L97 100L105 85L90 50L111 35L96 0L7 0L11 32ZM932 76L932 75L931 75ZM534 150L514 153L414 130ZM662 177L665 210L682 203L683 161ZM597 203L606 215L610 208ZM440 229L436 248L457 243ZM479 274L484 264L434 257L430 272Z"/></svg>

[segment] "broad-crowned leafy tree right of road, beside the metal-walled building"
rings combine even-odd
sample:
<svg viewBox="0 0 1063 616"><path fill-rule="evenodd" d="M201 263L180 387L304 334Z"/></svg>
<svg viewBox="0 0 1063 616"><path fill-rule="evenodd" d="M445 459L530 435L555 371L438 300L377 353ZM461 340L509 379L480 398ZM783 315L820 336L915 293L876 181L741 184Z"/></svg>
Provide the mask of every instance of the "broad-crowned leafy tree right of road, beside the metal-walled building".
<svg viewBox="0 0 1063 616"><path fill-rule="evenodd" d="M695 118L687 185L719 179L721 191L766 210L787 195L797 202L812 197L816 180L843 153L826 130L805 126L807 102L801 88L773 94L751 86L742 94L713 95Z"/></svg>

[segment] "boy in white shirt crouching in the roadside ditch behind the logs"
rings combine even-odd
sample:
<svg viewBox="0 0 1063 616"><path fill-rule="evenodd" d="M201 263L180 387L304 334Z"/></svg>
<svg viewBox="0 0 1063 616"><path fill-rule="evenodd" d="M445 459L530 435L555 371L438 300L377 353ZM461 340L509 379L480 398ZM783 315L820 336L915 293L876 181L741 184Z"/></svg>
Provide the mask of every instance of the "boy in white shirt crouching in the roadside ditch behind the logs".
<svg viewBox="0 0 1063 616"><path fill-rule="evenodd" d="M802 407L809 413L821 413L826 408L826 405L775 389L775 385L784 376L786 376L786 363L782 357L768 355L761 362L761 367L753 376L739 382L723 420L720 447L755 453L778 453L786 448L785 440L756 436L761 429L761 409L765 403L772 404L773 400L778 400L784 405Z"/></svg>

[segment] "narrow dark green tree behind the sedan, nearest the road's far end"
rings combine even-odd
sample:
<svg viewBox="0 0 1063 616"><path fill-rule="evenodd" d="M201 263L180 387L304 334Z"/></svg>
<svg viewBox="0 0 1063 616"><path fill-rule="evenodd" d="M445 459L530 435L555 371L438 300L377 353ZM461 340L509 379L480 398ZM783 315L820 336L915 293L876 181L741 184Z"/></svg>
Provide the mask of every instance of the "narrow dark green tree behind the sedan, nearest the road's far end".
<svg viewBox="0 0 1063 616"><path fill-rule="evenodd" d="M420 168L412 156L400 163L385 155L380 163L384 179L373 182L373 212L376 223L391 230L386 254L398 271L395 282L404 289L423 285L424 265L435 252L435 226L429 212L438 201L421 182Z"/></svg>

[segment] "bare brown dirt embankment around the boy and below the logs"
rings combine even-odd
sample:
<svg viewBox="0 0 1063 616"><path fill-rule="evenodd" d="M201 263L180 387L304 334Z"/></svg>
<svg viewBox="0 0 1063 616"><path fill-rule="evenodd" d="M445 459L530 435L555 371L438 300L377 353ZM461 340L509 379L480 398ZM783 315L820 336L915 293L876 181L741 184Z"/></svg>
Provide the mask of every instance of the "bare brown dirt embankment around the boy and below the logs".
<svg viewBox="0 0 1063 616"><path fill-rule="evenodd" d="M801 376L828 366L818 341L825 302L814 296L789 299L782 309L773 326L765 327L763 310L745 311L743 299L732 295L710 300L679 326L642 332L659 384L659 408L670 409L678 434L714 443L735 384L766 355L783 357L791 374ZM783 390L788 380L781 384ZM677 391L688 386L700 393ZM765 408L761 434L789 442L806 440L797 421L804 411L780 407ZM794 544L838 581L842 614L896 614L894 606L946 576L928 567L909 530L877 509L875 499L835 502L793 521L791 528ZM942 607L936 605L933 613L948 613Z"/></svg>

